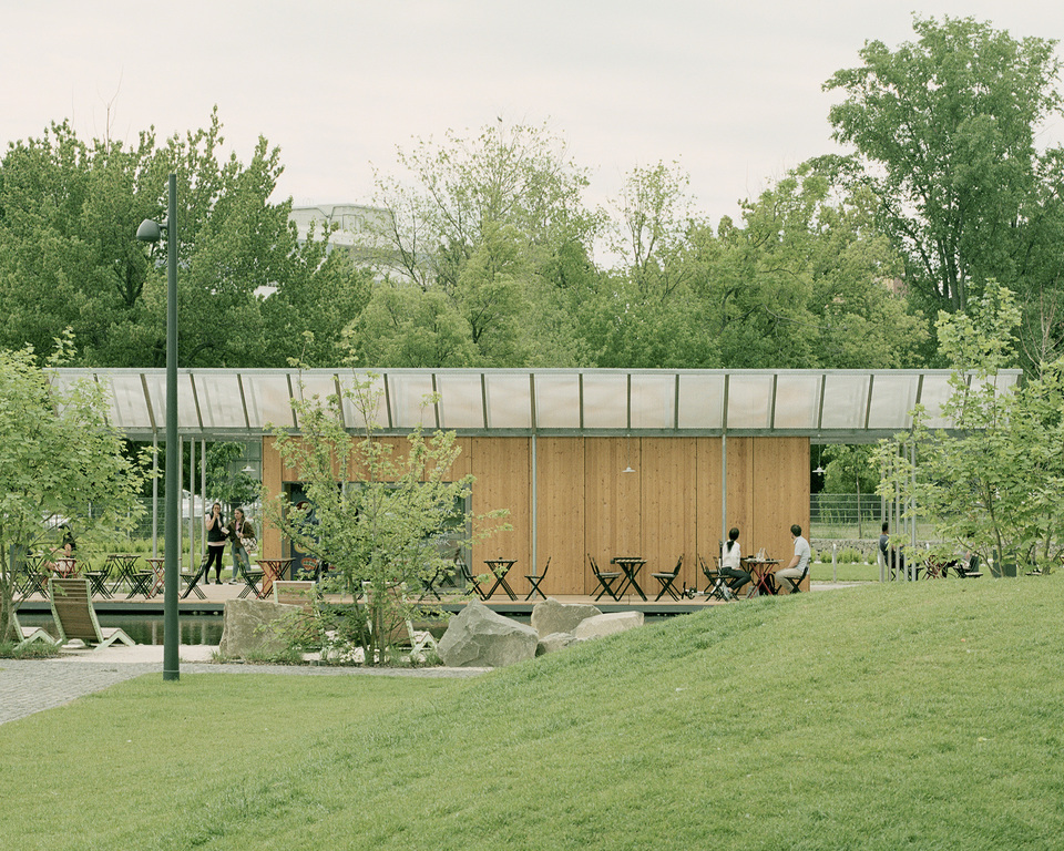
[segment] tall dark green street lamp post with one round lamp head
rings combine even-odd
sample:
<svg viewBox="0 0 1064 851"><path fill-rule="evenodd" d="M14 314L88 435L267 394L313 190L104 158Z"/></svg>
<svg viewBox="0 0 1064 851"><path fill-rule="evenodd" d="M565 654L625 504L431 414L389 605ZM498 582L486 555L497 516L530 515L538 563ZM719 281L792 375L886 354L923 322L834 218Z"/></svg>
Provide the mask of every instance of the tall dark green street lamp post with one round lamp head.
<svg viewBox="0 0 1064 851"><path fill-rule="evenodd" d="M166 222L166 503L163 584L163 679L181 677L177 648L177 491L181 488L181 458L177 454L177 175L170 175L170 211ZM145 218L136 228L142 243L157 243L162 228Z"/></svg>

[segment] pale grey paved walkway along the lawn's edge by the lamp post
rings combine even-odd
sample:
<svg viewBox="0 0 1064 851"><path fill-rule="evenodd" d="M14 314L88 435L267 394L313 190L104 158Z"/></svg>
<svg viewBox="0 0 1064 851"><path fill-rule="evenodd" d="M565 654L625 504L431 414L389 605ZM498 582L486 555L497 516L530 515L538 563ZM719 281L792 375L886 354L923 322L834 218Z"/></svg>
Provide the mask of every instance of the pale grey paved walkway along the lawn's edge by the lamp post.
<svg viewBox="0 0 1064 851"><path fill-rule="evenodd" d="M308 677L475 677L485 668L358 668L211 663L217 647L181 647L181 674L285 674ZM63 706L144 674L163 677L162 645L108 647L51 659L0 659L0 724Z"/></svg>

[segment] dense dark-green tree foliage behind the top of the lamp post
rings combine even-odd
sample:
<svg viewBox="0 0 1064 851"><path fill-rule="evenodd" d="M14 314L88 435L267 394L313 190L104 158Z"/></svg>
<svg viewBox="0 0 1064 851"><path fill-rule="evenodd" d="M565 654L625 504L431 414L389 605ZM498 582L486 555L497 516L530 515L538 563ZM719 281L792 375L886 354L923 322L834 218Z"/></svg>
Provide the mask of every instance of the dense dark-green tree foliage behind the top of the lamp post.
<svg viewBox="0 0 1064 851"><path fill-rule="evenodd" d="M208 126L162 145L154 131L129 147L106 136L86 143L68 123L12 144L0 161L0 310L9 318L0 345L45 351L69 326L79 366L165 362L166 246L147 256L132 234L144 218L165 216L173 171L182 363L284 362L287 352L267 346L266 334L296 309L293 336L310 328L320 346L338 346L365 303L357 276L342 256L325 259L325 237L299 244L290 199L269 202L279 151L259 139L244 165L223 155L224 142L215 110ZM342 318L299 298L307 290L335 296ZM280 297L267 326L269 293Z"/></svg>

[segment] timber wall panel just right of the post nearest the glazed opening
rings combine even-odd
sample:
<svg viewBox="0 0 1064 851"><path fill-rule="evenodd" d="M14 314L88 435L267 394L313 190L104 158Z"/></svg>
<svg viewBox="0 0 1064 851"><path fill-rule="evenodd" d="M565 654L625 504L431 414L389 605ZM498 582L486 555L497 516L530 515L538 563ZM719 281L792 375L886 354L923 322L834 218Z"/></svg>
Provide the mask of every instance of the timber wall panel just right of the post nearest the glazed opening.
<svg viewBox="0 0 1064 851"><path fill-rule="evenodd" d="M584 574L590 576L591 570L584 552L584 439L538 438L535 470L536 574L551 560L543 591L549 596L587 594Z"/></svg>

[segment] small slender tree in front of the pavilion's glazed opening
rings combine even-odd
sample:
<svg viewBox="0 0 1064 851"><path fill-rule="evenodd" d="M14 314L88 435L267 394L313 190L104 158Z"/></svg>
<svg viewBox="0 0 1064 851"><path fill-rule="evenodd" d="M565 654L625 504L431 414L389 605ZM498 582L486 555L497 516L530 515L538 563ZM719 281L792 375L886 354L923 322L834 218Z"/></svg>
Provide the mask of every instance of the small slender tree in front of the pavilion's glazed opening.
<svg viewBox="0 0 1064 851"><path fill-rule="evenodd" d="M390 658L392 633L417 612L396 588L420 586L450 573L453 562L440 553L449 532L475 526L487 537L502 525L505 512L473 517L466 507L472 475L450 481L461 452L453 432L426 439L420 429L406 438L406 451L375 437L372 412L379 393L374 378L326 399L294 402L301 435L278 429L283 463L304 482L306 503L287 494L265 501L266 514L300 550L338 571L344 589L355 598L339 633L362 648L366 664ZM348 399L366 423L361 435L344 428L341 406Z"/></svg>

